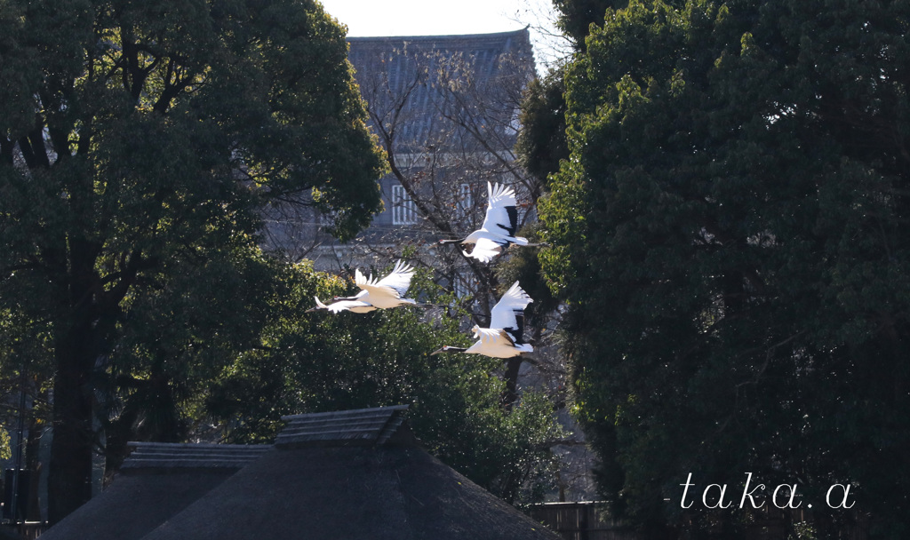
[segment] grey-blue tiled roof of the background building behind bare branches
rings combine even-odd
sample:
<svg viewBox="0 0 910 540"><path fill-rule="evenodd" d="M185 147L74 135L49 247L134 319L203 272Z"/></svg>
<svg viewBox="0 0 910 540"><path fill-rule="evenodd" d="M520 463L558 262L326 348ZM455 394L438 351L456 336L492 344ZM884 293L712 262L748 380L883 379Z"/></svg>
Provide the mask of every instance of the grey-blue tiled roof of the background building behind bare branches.
<svg viewBox="0 0 910 540"><path fill-rule="evenodd" d="M348 58L357 70L361 95L385 123L399 115L397 137L405 150L445 145L450 139L450 124L442 116L452 112L453 103L441 91L445 85L440 85L440 66L460 65L442 71L446 76L460 73L462 83L470 81L483 103L471 103L470 93L462 93L469 99L458 106L475 115L479 125L485 124L484 115L501 115L492 124L508 124L513 109L497 110L490 104L497 101L497 94L523 87L534 73L527 28L498 34L349 37L348 41ZM404 95L407 100L399 110ZM370 124L376 131L375 121Z"/></svg>

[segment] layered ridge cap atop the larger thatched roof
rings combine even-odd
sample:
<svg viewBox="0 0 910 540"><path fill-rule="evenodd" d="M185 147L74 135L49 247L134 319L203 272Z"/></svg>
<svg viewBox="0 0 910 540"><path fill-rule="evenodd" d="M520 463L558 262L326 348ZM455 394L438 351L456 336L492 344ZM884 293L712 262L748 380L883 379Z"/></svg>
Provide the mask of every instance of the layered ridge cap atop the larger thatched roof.
<svg viewBox="0 0 910 540"><path fill-rule="evenodd" d="M279 448L302 445L384 445L399 431L408 405L282 416Z"/></svg>

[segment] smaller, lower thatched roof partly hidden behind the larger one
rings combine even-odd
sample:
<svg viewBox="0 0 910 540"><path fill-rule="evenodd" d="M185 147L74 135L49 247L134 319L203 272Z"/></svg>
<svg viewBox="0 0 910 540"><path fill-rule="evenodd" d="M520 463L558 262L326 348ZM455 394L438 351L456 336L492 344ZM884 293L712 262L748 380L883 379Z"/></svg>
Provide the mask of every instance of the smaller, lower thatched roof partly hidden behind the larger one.
<svg viewBox="0 0 910 540"><path fill-rule="evenodd" d="M268 445L129 445L134 450L110 487L48 529L42 538L141 538L270 448Z"/></svg>

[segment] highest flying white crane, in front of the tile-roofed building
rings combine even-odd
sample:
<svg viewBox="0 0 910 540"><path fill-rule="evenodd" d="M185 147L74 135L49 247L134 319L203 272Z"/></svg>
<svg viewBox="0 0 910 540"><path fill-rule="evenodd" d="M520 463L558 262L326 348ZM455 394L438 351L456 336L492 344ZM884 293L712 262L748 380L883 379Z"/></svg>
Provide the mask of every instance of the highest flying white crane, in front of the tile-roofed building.
<svg viewBox="0 0 910 540"><path fill-rule="evenodd" d="M463 250L461 253L466 257L474 257L481 263L489 263L511 244L537 245L528 244L527 238L515 235L518 226L515 190L507 185L487 182L487 194L487 215L483 218L480 229L457 240L440 240L440 245L473 244L474 249L470 253Z"/></svg>

